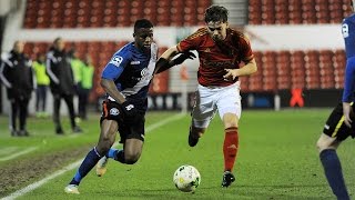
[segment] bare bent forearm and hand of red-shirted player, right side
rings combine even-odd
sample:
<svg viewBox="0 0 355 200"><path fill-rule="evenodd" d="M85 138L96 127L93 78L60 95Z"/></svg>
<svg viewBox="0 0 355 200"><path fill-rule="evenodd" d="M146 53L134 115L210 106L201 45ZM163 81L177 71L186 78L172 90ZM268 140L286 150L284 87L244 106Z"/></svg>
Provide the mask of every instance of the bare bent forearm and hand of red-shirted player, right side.
<svg viewBox="0 0 355 200"><path fill-rule="evenodd" d="M255 59L251 59L246 64L239 69L225 69L226 73L223 76L224 79L234 80L236 77L250 76L257 71Z"/></svg>

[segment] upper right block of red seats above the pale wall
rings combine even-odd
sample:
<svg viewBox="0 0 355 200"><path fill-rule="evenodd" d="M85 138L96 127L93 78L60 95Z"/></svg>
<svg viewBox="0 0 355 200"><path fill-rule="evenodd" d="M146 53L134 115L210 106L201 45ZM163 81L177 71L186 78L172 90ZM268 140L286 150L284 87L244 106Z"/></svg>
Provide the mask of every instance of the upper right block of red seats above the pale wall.
<svg viewBox="0 0 355 200"><path fill-rule="evenodd" d="M347 0L250 0L248 24L341 23Z"/></svg>

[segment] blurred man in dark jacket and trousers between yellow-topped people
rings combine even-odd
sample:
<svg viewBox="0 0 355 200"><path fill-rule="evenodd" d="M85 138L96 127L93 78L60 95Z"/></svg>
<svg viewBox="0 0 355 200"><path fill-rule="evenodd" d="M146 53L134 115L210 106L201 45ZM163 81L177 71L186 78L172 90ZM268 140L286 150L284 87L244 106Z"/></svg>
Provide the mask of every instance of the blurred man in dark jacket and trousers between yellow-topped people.
<svg viewBox="0 0 355 200"><path fill-rule="evenodd" d="M72 131L82 132L75 123L73 104L73 96L75 93L74 77L70 64L70 57L65 52L64 47L64 40L57 38L47 53L47 73L50 78L50 89L53 94L53 121L57 134L64 133L59 116L61 99L64 99L68 106Z"/></svg>

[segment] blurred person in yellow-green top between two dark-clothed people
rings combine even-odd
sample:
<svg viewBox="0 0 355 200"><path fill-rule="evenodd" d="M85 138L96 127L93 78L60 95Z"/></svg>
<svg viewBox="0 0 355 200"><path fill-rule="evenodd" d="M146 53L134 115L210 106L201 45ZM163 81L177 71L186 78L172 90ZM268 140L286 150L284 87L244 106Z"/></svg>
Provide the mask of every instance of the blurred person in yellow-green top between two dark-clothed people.
<svg viewBox="0 0 355 200"><path fill-rule="evenodd" d="M37 117L47 117L47 90L49 87L49 77L45 73L45 54L39 53L37 60L33 62L33 69L37 81L36 89L36 112Z"/></svg>

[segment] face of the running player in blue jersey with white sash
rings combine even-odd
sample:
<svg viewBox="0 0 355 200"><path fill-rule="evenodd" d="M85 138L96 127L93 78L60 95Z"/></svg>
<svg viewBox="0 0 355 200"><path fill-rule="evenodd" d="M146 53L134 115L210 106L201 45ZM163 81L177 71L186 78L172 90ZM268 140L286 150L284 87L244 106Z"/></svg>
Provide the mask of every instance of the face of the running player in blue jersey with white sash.
<svg viewBox="0 0 355 200"><path fill-rule="evenodd" d="M150 50L153 42L153 28L140 28L134 32L134 43L139 49Z"/></svg>

